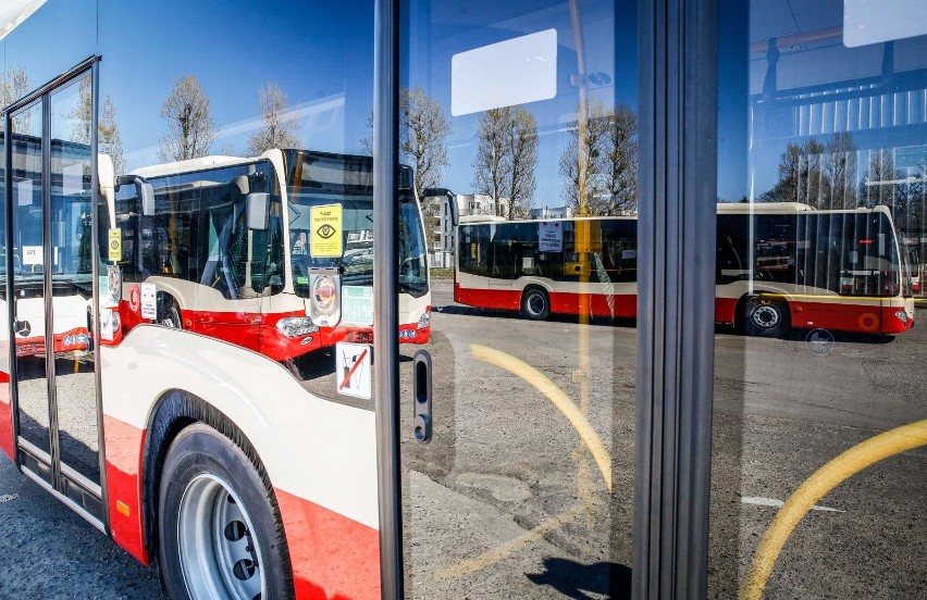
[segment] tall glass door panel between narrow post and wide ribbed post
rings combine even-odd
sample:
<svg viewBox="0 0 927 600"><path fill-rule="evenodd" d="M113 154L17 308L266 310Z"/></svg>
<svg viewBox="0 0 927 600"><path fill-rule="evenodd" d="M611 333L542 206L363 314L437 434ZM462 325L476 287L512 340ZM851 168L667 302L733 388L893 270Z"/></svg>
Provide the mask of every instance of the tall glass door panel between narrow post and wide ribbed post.
<svg viewBox="0 0 927 600"><path fill-rule="evenodd" d="M423 249L412 232L400 239L430 272L429 295L399 298L404 327L430 311L428 345L399 340L407 596L625 597L633 5L413 0L403 11L400 162ZM413 398L429 386L421 350L430 404ZM416 441L429 428L430 442Z"/></svg>

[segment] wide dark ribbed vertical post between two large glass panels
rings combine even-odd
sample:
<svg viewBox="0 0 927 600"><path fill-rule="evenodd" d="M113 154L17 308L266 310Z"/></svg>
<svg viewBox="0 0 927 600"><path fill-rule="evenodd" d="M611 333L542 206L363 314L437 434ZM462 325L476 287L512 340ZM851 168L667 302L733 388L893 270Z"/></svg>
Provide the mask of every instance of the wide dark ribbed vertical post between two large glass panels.
<svg viewBox="0 0 927 600"><path fill-rule="evenodd" d="M715 0L642 0L634 598L704 598L717 201Z"/></svg>

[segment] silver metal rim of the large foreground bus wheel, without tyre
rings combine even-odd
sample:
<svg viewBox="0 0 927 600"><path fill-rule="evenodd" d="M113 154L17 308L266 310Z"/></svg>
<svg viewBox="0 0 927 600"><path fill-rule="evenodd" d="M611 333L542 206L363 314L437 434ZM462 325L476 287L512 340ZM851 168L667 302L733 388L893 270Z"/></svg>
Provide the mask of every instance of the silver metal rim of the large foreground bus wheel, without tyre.
<svg viewBox="0 0 927 600"><path fill-rule="evenodd" d="M256 600L267 589L261 549L238 496L221 477L195 477L181 500L177 550L190 598Z"/></svg>

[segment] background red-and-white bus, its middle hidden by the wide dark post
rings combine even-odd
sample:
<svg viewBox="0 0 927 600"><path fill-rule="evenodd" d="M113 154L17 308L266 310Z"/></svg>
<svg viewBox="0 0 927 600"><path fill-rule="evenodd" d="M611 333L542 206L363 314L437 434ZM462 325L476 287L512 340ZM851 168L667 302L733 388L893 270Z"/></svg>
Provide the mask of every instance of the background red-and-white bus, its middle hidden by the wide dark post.
<svg viewBox="0 0 927 600"><path fill-rule="evenodd" d="M454 300L484 309L634 317L636 217L461 217ZM898 334L914 301L886 207L719 204L715 320L761 336L789 328ZM588 308L583 308L588 307Z"/></svg>

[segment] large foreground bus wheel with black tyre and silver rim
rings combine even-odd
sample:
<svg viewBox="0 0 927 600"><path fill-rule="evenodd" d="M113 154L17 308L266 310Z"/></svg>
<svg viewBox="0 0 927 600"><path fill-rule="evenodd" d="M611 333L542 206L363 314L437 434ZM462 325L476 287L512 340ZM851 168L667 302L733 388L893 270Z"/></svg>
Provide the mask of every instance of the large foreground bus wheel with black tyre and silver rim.
<svg viewBox="0 0 927 600"><path fill-rule="evenodd" d="M181 432L158 495L158 563L168 598L289 598L283 526L245 453L203 424Z"/></svg>

